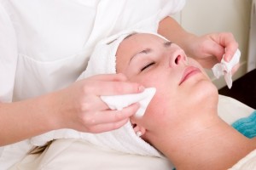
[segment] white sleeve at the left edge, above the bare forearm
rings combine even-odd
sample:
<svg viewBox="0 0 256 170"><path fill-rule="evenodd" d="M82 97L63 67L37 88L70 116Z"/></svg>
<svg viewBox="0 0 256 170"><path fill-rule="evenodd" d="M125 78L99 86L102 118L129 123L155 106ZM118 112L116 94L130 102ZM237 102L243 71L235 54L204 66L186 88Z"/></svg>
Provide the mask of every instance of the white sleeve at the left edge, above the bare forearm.
<svg viewBox="0 0 256 170"><path fill-rule="evenodd" d="M17 63L15 30L0 3L0 101L12 100Z"/></svg>

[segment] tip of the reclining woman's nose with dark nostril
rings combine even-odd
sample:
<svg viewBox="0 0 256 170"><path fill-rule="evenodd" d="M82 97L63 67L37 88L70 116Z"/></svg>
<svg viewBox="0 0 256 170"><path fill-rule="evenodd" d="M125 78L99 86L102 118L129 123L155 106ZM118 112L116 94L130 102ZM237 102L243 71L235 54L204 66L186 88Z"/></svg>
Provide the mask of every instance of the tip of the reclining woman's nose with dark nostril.
<svg viewBox="0 0 256 170"><path fill-rule="evenodd" d="M171 54L169 58L169 66L175 67L177 65L186 65L187 64L187 57L183 53L183 51L176 51L173 54Z"/></svg>

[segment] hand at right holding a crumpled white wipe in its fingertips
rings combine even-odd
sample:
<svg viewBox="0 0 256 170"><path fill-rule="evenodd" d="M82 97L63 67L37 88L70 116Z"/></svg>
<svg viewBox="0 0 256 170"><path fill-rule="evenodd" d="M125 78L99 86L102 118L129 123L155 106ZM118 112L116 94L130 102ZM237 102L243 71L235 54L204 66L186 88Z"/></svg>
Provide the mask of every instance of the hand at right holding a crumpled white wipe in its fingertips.
<svg viewBox="0 0 256 170"><path fill-rule="evenodd" d="M205 68L224 60L229 62L236 53L238 43L230 32L211 33L202 37L190 37L188 43L191 57L195 58ZM239 64L235 65L232 72L236 72Z"/></svg>

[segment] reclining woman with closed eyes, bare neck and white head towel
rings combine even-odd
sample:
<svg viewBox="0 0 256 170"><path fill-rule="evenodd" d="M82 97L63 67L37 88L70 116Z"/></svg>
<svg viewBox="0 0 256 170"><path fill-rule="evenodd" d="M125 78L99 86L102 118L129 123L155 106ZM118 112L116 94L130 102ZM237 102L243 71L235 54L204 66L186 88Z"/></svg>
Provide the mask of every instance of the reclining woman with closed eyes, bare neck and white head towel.
<svg viewBox="0 0 256 170"><path fill-rule="evenodd" d="M187 57L182 48L157 34L128 32L103 41L103 46L96 46L84 73L85 76L122 73L131 82L156 88L144 116L132 116L131 124L125 125L133 127L133 133L140 136L134 135L138 140L153 145L178 170L228 169L256 148L255 134L249 134L247 138L218 116L218 89L195 59ZM110 55L104 58L104 54ZM93 55L105 59L102 61L104 65L98 66L101 71L90 71L95 69L94 64L101 63ZM255 111L253 115L256 115ZM239 127L240 121L235 122L237 128L242 127L241 132L245 132L247 124ZM120 135L115 132L122 132L122 128L125 127L108 133ZM88 135L90 138L99 135L97 138L100 139L101 134ZM117 137L119 144L133 137L125 139L125 135ZM108 142L110 146L114 145L113 138L106 139L104 144ZM130 147L126 145L124 150L135 145L131 141L126 144Z"/></svg>

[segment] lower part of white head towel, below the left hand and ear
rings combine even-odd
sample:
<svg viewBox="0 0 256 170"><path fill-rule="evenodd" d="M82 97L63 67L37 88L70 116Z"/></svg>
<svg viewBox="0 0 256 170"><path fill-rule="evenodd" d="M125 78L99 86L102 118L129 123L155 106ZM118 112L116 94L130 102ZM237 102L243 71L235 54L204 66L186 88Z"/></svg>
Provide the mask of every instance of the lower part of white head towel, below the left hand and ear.
<svg viewBox="0 0 256 170"><path fill-rule="evenodd" d="M32 138L31 143L33 145L43 145L46 141L52 139L83 139L91 144L128 154L162 157L154 147L137 137L131 122L126 123L125 126L117 130L106 133L80 133L72 129L55 130Z"/></svg>

